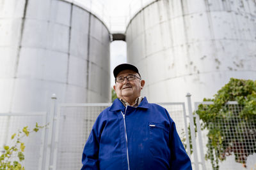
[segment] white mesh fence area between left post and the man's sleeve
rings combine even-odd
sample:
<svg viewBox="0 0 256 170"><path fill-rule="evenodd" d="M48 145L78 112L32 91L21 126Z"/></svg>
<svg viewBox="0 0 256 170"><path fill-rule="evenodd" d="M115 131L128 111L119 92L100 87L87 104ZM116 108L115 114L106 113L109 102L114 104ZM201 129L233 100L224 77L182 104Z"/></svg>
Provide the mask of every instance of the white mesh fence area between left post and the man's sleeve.
<svg viewBox="0 0 256 170"><path fill-rule="evenodd" d="M57 111L57 136L54 169L81 169L86 140L99 113L111 104L60 104Z"/></svg>

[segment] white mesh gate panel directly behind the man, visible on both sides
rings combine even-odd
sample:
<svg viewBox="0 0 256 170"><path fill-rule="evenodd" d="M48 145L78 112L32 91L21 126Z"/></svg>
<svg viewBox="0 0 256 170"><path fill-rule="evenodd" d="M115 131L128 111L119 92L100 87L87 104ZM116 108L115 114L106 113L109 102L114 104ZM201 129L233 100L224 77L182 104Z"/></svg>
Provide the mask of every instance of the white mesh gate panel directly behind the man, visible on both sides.
<svg viewBox="0 0 256 170"><path fill-rule="evenodd" d="M185 103L158 103L168 110L174 120L182 142L188 146L188 120ZM83 147L99 113L111 103L58 104L53 120L54 145L52 145L52 169L80 169ZM196 146L195 146L196 147ZM50 152L49 152L50 153ZM194 159L192 159L194 160Z"/></svg>

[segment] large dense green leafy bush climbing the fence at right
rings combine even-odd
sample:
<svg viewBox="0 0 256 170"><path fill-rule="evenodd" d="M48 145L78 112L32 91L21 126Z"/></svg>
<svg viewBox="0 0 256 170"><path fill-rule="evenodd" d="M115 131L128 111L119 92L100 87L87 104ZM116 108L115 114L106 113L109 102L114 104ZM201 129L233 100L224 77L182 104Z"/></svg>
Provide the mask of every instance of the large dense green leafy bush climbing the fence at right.
<svg viewBox="0 0 256 170"><path fill-rule="evenodd" d="M219 169L219 162L234 153L236 162L246 167L247 157L256 153L256 81L231 78L214 99L204 101L214 102L200 104L196 111L202 129L208 130L205 159ZM228 101L239 105L233 109Z"/></svg>

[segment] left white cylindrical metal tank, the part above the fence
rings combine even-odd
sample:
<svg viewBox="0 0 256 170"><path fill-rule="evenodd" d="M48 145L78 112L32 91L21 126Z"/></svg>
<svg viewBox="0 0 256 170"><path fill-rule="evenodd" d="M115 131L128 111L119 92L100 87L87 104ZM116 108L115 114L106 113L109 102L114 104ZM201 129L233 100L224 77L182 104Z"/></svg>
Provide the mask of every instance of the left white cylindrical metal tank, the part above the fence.
<svg viewBox="0 0 256 170"><path fill-rule="evenodd" d="M0 112L110 101L109 30L64 0L0 3Z"/></svg>

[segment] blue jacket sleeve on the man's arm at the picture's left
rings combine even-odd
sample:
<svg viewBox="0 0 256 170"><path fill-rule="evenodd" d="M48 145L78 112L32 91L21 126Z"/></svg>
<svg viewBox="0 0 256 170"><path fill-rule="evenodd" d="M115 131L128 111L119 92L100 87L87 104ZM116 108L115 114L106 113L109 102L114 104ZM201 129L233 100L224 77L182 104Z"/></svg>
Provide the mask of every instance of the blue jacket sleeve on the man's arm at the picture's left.
<svg viewBox="0 0 256 170"><path fill-rule="evenodd" d="M99 122L98 117L84 146L81 170L99 169Z"/></svg>

